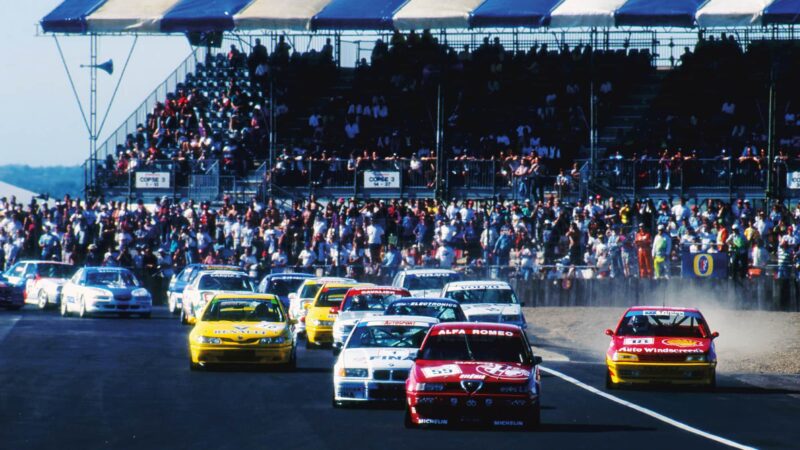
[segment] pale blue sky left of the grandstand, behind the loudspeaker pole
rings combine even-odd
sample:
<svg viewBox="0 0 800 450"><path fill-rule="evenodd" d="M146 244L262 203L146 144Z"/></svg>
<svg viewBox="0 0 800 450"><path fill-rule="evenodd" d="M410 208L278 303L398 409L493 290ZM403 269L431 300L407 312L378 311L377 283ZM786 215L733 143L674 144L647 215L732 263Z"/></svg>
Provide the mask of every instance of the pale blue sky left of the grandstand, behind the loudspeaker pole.
<svg viewBox="0 0 800 450"><path fill-rule="evenodd" d="M79 165L89 155L83 124L58 50L36 24L60 0L4 2L0 28L0 165ZM78 94L88 114L89 38L59 37ZM98 62L114 60L114 74L98 71L98 121L102 120L133 37L99 39ZM183 36L139 38L117 98L100 134L101 144L164 79L191 48Z"/></svg>

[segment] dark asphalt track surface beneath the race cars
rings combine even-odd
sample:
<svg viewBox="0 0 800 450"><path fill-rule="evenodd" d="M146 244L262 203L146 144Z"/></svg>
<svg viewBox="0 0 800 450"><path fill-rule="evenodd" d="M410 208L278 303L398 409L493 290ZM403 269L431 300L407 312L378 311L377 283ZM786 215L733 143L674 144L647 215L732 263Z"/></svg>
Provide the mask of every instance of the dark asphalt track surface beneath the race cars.
<svg viewBox="0 0 800 450"><path fill-rule="evenodd" d="M537 431L407 430L400 408L331 407L329 350L300 345L293 373L191 372L188 333L163 309L150 320L0 310L0 448L730 448L553 375ZM605 391L591 360L544 366ZM800 387L720 377L715 392L609 393L742 445L800 446Z"/></svg>

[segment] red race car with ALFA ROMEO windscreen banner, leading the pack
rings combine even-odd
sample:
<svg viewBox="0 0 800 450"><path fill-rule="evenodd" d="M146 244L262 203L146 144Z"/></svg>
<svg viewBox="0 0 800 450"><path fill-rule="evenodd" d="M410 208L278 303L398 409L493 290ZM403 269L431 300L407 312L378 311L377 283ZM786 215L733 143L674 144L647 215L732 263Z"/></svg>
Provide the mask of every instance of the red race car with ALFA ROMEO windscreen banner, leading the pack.
<svg viewBox="0 0 800 450"><path fill-rule="evenodd" d="M516 325L434 325L406 380L406 427L539 425L538 364Z"/></svg>

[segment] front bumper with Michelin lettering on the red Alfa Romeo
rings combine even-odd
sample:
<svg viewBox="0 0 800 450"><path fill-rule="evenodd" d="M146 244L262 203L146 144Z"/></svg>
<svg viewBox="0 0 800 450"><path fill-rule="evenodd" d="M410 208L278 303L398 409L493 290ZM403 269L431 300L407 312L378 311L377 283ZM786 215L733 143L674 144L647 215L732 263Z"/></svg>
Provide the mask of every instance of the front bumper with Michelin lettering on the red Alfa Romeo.
<svg viewBox="0 0 800 450"><path fill-rule="evenodd" d="M411 422L417 425L522 427L539 410L536 395L409 392L407 402Z"/></svg>

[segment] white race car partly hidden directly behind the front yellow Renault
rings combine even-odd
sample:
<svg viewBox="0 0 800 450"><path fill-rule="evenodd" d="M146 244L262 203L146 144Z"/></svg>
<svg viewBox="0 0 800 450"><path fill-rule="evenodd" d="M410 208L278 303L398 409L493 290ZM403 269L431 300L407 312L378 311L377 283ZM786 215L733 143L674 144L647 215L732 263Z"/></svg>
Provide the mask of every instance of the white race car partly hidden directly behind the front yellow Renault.
<svg viewBox="0 0 800 450"><path fill-rule="evenodd" d="M250 277L234 270L202 271L183 289L181 323L195 323L200 312L217 294L249 294L255 291Z"/></svg>

